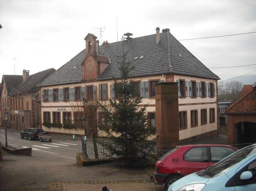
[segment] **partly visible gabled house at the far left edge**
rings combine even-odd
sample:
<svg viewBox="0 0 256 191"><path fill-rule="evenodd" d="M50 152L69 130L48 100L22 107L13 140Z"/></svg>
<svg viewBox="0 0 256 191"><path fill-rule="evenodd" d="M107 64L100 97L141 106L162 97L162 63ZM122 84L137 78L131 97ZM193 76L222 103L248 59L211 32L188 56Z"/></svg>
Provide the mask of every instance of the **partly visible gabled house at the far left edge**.
<svg viewBox="0 0 256 191"><path fill-rule="evenodd" d="M5 126L4 122L4 113L8 114L8 121L6 126L11 128L11 110L10 110L10 97L8 94L22 82L22 75L3 75L2 82L0 87L0 96L1 96L1 126Z"/></svg>

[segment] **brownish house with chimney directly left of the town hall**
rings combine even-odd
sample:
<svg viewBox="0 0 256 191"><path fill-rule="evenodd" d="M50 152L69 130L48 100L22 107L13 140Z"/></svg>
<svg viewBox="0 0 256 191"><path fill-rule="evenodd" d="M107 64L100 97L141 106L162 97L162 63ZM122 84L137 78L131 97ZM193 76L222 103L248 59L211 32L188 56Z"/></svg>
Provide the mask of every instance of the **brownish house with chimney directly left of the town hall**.
<svg viewBox="0 0 256 191"><path fill-rule="evenodd" d="M54 73L54 68L29 75L29 70L23 70L22 82L8 93L10 103L11 128L25 130L25 128L39 128L39 98L38 83Z"/></svg>

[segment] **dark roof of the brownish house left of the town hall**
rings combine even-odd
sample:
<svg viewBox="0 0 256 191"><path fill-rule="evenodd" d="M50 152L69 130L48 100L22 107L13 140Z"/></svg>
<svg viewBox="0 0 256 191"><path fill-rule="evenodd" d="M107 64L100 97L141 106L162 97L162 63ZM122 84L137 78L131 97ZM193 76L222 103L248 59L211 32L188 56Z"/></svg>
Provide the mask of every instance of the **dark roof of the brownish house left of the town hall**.
<svg viewBox="0 0 256 191"><path fill-rule="evenodd" d="M55 71L56 71L56 69L50 68L45 71L29 75L29 78L26 81L21 82L9 94L18 94L18 93L29 92L29 91L32 91L32 92L38 91L38 87L36 87L36 85L38 85L38 83L45 80L47 77L49 77Z"/></svg>

